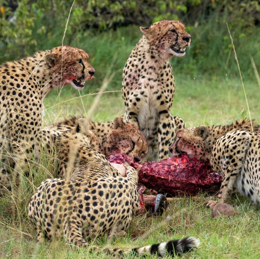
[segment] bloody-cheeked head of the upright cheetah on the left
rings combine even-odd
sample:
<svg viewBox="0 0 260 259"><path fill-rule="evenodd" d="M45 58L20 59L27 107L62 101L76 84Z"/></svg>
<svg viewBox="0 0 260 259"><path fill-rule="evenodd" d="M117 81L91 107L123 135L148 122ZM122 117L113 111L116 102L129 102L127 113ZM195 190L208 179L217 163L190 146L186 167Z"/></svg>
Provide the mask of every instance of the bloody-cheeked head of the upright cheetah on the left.
<svg viewBox="0 0 260 259"><path fill-rule="evenodd" d="M95 70L89 63L88 54L81 49L60 46L46 51L44 60L55 81L60 85L72 85L75 89L83 89L86 80L93 77ZM60 84L61 82L61 84Z"/></svg>

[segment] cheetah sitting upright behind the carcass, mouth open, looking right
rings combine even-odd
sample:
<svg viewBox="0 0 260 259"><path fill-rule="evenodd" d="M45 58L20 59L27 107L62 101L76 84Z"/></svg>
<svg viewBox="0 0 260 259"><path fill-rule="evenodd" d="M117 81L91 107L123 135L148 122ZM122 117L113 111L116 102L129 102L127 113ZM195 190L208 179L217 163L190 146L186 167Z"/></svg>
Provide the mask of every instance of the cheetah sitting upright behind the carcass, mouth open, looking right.
<svg viewBox="0 0 260 259"><path fill-rule="evenodd" d="M183 120L171 114L174 77L169 59L185 55L191 36L179 21L163 20L140 30L143 36L123 69L124 121L145 135L147 159L161 160L168 157L176 131L184 128Z"/></svg>

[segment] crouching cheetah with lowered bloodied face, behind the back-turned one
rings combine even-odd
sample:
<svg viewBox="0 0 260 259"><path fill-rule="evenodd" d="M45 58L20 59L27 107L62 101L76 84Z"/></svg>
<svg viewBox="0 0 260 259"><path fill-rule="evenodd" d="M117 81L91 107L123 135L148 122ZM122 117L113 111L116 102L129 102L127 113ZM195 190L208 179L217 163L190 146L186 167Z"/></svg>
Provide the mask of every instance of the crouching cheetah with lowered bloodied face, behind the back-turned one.
<svg viewBox="0 0 260 259"><path fill-rule="evenodd" d="M123 122L116 116L113 122L88 121L81 116L68 116L61 122L51 124L49 129L64 132L68 130L79 130L84 133L84 125L88 125L85 132L94 134L99 142L99 150L106 157L113 154L127 154L136 162L144 158L147 153L147 141L140 130L132 124Z"/></svg>

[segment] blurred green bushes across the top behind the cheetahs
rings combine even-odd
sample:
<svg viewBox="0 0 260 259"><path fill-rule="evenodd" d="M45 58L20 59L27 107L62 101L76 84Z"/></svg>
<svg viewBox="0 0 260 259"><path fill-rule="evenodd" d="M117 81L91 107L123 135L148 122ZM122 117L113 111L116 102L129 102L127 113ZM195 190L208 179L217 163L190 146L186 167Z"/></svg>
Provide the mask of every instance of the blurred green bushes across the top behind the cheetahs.
<svg viewBox="0 0 260 259"><path fill-rule="evenodd" d="M0 62L61 45L72 4L73 0L0 0ZM259 1L76 0L64 44L76 43L76 46L84 45L87 50L94 50L91 46L81 44L82 41L102 35L103 31L107 33L130 24L149 26L162 19L179 19L191 33L192 54L189 54L189 58L186 55L185 62L181 60L181 63L185 64L187 73L192 75L198 71L205 72L200 66L202 62L207 72L216 69L224 71L230 64L231 45L226 22L233 33L235 44L239 42L239 46L243 47L243 53L250 52L253 57L258 53L259 56ZM138 28L135 30L138 31ZM125 34L120 37L123 39L129 36ZM140 33L135 37L133 42L138 40ZM123 44L121 38L119 41ZM221 54L224 55L224 62L219 57ZM178 63L176 59L172 62L174 65ZM259 57L255 62L259 67ZM248 55L245 64L251 69Z"/></svg>

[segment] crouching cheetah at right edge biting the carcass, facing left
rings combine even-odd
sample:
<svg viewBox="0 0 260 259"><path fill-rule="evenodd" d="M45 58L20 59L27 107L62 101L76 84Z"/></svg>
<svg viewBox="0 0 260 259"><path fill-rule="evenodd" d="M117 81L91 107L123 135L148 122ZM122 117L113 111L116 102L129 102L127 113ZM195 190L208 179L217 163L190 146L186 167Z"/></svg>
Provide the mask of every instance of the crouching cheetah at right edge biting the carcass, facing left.
<svg viewBox="0 0 260 259"><path fill-rule="evenodd" d="M225 203L235 187L255 203L260 202L260 126L248 119L228 126L198 126L177 133L172 145L174 155L185 152L190 158L210 161L223 175L217 201L207 207Z"/></svg>

